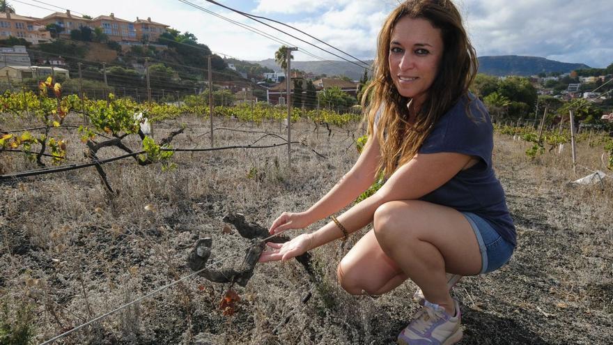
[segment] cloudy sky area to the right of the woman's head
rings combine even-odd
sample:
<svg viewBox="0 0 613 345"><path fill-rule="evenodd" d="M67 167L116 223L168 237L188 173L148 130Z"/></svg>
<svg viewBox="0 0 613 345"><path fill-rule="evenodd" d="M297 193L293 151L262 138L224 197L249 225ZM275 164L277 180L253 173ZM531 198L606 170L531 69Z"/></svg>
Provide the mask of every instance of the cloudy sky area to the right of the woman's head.
<svg viewBox="0 0 613 345"><path fill-rule="evenodd" d="M613 62L610 0L469 0L463 8L479 55L543 56L595 67Z"/></svg>

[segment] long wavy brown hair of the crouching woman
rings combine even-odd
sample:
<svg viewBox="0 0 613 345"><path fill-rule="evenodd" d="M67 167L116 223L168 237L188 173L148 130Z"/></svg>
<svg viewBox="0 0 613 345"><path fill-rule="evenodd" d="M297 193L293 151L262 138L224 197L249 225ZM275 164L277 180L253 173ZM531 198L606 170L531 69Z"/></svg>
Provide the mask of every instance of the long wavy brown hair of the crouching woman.
<svg viewBox="0 0 613 345"><path fill-rule="evenodd" d="M392 31L405 16L423 18L440 29L444 46L437 76L413 124L408 123L407 105L411 99L398 93L388 60ZM476 52L463 27L462 17L451 1L408 0L390 13L379 33L373 81L362 97L362 105L367 109L364 120L368 121L368 135L373 135L375 117L378 117L379 169L386 177L414 157L438 119L458 102L460 96L467 95L477 68Z"/></svg>

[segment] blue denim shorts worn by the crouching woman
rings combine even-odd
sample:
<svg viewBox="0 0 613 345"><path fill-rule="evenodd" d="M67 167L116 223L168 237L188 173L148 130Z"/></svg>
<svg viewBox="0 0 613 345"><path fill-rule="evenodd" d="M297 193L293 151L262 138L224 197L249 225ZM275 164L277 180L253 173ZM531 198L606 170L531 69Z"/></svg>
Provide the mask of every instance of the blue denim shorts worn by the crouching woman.
<svg viewBox="0 0 613 345"><path fill-rule="evenodd" d="M511 259L515 247L502 238L483 218L470 212L462 214L470 223L479 242L479 252L481 252L481 273L479 274L490 273L501 268Z"/></svg>

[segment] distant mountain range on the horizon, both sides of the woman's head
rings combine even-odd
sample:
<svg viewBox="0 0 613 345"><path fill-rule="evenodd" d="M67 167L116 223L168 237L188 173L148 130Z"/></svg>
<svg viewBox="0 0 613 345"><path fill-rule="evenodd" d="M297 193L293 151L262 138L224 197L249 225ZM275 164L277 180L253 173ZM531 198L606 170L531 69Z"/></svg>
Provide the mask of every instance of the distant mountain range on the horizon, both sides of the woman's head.
<svg viewBox="0 0 613 345"><path fill-rule="evenodd" d="M281 68L274 62L274 59L252 62L259 63L261 66L271 68L272 70L281 71ZM364 62L372 65L373 60L366 60ZM357 64L361 65L361 63ZM364 68L360 68L347 61L292 61L292 68L311 72L315 75L346 75L354 80L358 80L364 75ZM582 68L590 67L584 63L565 63L537 56L504 55L479 57L479 72L497 76L529 76L538 75L540 72L566 73Z"/></svg>

